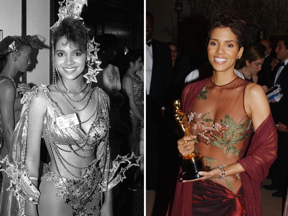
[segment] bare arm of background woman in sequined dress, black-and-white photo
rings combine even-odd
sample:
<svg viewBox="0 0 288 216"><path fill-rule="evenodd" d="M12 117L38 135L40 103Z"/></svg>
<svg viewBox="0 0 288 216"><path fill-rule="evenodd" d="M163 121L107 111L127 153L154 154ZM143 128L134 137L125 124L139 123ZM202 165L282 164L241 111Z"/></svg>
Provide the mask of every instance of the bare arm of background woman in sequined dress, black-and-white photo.
<svg viewBox="0 0 288 216"><path fill-rule="evenodd" d="M138 119L140 119L141 123L144 122L144 116L142 116L140 110L137 107L137 104L134 100L134 94L133 94L133 80L129 76L124 76L122 80L123 88L125 89L128 98L129 98L129 106L132 110L132 112L137 116Z"/></svg>

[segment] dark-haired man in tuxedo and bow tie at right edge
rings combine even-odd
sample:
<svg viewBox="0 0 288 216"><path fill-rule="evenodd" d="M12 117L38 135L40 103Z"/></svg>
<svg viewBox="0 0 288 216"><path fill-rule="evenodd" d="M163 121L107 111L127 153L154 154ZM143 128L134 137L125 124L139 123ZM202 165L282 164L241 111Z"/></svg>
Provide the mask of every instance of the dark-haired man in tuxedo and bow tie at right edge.
<svg viewBox="0 0 288 216"><path fill-rule="evenodd" d="M278 149L277 159L271 166L272 184L265 185L264 188L276 189L272 196L282 197L284 193L286 195L288 170L288 133L285 132L288 126L288 36L278 40L275 52L281 62L274 68L272 86L281 85L283 97L278 102L270 103L277 128Z"/></svg>

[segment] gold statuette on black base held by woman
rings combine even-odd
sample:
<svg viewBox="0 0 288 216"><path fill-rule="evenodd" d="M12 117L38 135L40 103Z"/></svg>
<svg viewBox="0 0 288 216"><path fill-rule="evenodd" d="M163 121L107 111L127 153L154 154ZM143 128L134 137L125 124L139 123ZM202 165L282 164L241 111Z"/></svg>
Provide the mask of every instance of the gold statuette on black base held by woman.
<svg viewBox="0 0 288 216"><path fill-rule="evenodd" d="M181 126L184 136L189 136L189 130L187 127L187 117L185 113L180 110L180 101L174 102L174 118L176 122ZM182 170L180 177L183 180L199 179L202 176L198 174L199 171L209 171L210 167L205 166L203 156L198 152L191 152L188 156L182 158Z"/></svg>

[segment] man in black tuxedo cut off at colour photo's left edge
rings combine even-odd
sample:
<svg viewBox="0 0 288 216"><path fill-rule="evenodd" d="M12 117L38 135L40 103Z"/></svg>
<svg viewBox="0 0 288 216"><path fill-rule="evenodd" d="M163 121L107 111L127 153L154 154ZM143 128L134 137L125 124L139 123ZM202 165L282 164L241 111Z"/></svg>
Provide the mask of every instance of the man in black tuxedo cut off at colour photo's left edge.
<svg viewBox="0 0 288 216"><path fill-rule="evenodd" d="M154 18L146 12L146 190L156 190L159 162L163 161L164 113L172 82L170 47L152 39ZM176 144L175 144L176 145ZM165 163L164 163L165 164ZM165 165L164 165L165 166ZM158 169L159 167L159 169ZM162 167L163 168L163 167ZM154 192L153 192L154 193ZM147 194L147 193L146 193ZM155 195L155 193L154 193ZM153 203L152 203L153 205Z"/></svg>

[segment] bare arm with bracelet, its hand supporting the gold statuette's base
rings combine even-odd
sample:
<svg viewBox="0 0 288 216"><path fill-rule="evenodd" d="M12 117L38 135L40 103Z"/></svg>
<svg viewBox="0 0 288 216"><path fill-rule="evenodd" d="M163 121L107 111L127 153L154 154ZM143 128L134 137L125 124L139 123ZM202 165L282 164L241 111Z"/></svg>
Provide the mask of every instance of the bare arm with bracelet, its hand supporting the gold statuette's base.
<svg viewBox="0 0 288 216"><path fill-rule="evenodd" d="M263 88L260 85L256 85L254 83L247 84L247 87L245 89L244 106L247 115L252 119L253 127L256 131L257 128L261 125L261 123L270 114L268 100L266 98ZM224 167L224 170L225 176L231 176L233 174L245 171L245 169L238 162ZM199 172L199 175L202 175L204 177L191 181L219 178L222 175L222 171L219 168L214 168L210 172Z"/></svg>

